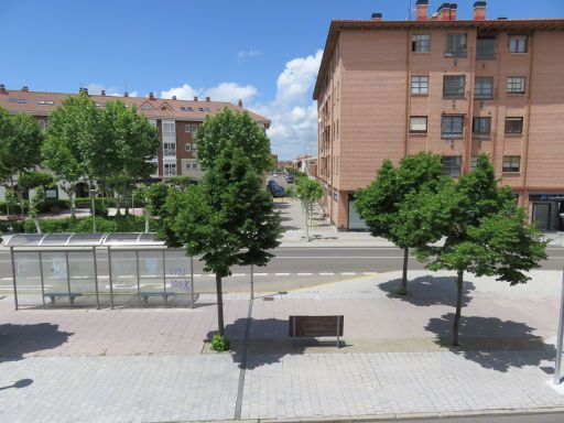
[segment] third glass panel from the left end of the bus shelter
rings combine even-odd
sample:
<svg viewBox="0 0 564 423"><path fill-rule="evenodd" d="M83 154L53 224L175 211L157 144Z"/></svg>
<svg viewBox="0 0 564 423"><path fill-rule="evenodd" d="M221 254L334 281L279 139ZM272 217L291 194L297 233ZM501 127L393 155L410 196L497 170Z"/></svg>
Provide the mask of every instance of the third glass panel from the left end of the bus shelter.
<svg viewBox="0 0 564 423"><path fill-rule="evenodd" d="M68 271L70 273L70 292L75 295L75 305L96 307L96 282L91 250L69 251Z"/></svg>

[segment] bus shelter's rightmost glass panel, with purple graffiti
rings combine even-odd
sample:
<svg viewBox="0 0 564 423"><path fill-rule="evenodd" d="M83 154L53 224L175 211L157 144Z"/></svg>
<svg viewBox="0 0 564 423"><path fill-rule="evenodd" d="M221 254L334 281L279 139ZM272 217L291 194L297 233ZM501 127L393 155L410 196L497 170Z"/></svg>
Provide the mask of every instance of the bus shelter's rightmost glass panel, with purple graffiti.
<svg viewBox="0 0 564 423"><path fill-rule="evenodd" d="M184 250L166 250L164 260L166 291L171 306L189 306L192 302L191 261Z"/></svg>

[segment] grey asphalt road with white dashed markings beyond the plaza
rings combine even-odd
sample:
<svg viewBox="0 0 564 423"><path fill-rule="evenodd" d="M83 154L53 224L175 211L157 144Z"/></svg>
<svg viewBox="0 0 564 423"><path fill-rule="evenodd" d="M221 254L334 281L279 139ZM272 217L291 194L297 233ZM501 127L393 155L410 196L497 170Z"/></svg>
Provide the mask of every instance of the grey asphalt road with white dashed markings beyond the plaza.
<svg viewBox="0 0 564 423"><path fill-rule="evenodd" d="M403 254L398 248L375 247L375 248L323 248L323 247L299 247L278 248L272 251L275 256L271 262L263 268L254 269L254 282L257 291L284 291L296 288L312 286L319 283L354 278L373 272L388 272L400 270ZM564 267L564 249L549 248L549 259L542 263L544 270L561 270ZM108 274L107 253L98 252L98 274L104 278ZM181 259L182 253L178 253ZM86 269L91 269L91 259L85 253L74 262L83 262ZM36 265L36 260L30 261ZM120 258L122 269L129 269L134 273L134 256L122 256ZM45 264L44 264L45 265ZM73 269L73 264L70 264ZM204 272L204 263L194 260L195 283L202 288L202 292L214 291L214 280ZM423 269L414 257L410 258L410 269ZM91 272L91 270L87 270ZM248 291L250 269L234 268L234 275L225 281L228 292ZM72 271L73 273L73 271ZM0 290L7 292L11 286L11 262L9 251L0 251ZM36 282L35 282L36 283Z"/></svg>

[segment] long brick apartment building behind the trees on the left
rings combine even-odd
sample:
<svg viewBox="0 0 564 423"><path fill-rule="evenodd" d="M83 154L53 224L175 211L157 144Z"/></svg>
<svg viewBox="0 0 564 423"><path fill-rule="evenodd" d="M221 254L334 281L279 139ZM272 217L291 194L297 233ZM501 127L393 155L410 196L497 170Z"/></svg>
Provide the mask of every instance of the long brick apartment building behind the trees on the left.
<svg viewBox="0 0 564 423"><path fill-rule="evenodd" d="M88 94L88 90L82 88ZM3 107L11 113L23 111L33 115L44 127L48 121L48 113L55 107L61 106L62 101L72 94L66 93L40 93L31 91L28 87L19 90L8 89L0 85L0 107ZM158 164L159 171L154 177L163 178L170 176L187 175L200 178L202 170L197 163L197 145L195 134L207 115L213 115L224 107L234 111L245 110L242 101L238 105L224 101L212 101L209 97L205 100L178 100L156 98L152 93L147 98L129 97L127 93L122 97L106 96L102 90L100 95L88 95L98 107L105 107L110 99L120 99L126 105L135 106L138 110L145 115L150 122L159 129L161 147L159 149ZM269 128L270 120L247 110L249 115L264 129ZM86 184L84 184L86 189ZM80 189L80 185L78 185ZM59 194L63 192L59 189ZM86 194L79 196L88 196ZM56 193L58 196L58 193Z"/></svg>

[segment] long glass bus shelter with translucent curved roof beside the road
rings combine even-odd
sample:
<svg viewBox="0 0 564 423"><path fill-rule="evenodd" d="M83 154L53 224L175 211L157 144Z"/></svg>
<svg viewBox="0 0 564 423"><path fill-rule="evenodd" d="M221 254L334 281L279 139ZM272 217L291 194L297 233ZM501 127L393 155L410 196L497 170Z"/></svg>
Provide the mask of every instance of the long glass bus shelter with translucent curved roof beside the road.
<svg viewBox="0 0 564 423"><path fill-rule="evenodd" d="M18 234L10 249L19 307L194 307L192 257L152 234Z"/></svg>

